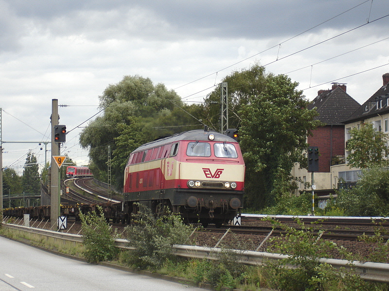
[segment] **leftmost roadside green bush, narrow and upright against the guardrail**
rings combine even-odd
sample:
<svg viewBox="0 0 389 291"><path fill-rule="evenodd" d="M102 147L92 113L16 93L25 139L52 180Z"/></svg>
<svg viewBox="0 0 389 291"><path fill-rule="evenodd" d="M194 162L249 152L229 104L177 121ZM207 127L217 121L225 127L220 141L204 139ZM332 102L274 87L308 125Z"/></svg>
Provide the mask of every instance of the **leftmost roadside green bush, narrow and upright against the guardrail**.
<svg viewBox="0 0 389 291"><path fill-rule="evenodd" d="M83 256L89 263L97 264L99 261L114 259L118 253L112 229L107 224L103 209L98 206L96 211L83 214L80 210L82 236L85 251Z"/></svg>

